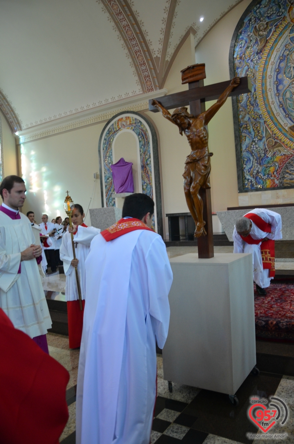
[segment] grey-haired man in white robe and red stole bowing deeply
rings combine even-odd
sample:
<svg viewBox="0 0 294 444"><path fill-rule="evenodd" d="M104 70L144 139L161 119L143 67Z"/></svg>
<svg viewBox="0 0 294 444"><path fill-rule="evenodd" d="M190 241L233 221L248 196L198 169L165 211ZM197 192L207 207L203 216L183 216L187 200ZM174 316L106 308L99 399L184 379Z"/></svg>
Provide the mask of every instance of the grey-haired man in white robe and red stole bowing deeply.
<svg viewBox="0 0 294 444"><path fill-rule="evenodd" d="M281 215L265 208L255 208L236 221L234 253L251 253L253 279L261 296L274 278L274 241L282 239Z"/></svg>

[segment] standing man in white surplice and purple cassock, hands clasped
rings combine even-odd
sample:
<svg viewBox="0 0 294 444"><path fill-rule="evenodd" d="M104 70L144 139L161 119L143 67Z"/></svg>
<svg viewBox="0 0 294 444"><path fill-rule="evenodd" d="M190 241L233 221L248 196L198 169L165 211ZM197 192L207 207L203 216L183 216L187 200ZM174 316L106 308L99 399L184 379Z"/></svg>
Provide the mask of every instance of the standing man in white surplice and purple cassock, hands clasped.
<svg viewBox="0 0 294 444"><path fill-rule="evenodd" d="M35 245L31 222L19 212L25 192L18 176L7 176L1 182L0 308L16 329L48 353L46 333L52 322L37 265L42 247Z"/></svg>

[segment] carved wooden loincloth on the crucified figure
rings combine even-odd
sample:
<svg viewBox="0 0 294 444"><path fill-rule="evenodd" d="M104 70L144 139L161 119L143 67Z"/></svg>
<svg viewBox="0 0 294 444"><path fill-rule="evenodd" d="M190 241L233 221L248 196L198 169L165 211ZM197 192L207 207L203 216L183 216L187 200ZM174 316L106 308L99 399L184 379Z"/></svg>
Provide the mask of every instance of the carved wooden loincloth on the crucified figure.
<svg viewBox="0 0 294 444"><path fill-rule="evenodd" d="M204 189L210 188L210 158L212 155L213 153L209 153L200 159L189 155L185 162L184 181L190 185L193 182L198 183Z"/></svg>

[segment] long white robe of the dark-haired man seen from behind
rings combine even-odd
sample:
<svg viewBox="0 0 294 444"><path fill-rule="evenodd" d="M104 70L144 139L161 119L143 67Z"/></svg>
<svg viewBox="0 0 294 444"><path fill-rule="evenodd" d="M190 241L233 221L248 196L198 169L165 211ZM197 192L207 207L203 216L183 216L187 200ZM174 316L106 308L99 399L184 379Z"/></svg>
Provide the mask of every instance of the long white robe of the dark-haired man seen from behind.
<svg viewBox="0 0 294 444"><path fill-rule="evenodd" d="M76 443L149 444L156 347L169 329L172 270L158 234L136 230L86 259L86 305L78 366Z"/></svg>

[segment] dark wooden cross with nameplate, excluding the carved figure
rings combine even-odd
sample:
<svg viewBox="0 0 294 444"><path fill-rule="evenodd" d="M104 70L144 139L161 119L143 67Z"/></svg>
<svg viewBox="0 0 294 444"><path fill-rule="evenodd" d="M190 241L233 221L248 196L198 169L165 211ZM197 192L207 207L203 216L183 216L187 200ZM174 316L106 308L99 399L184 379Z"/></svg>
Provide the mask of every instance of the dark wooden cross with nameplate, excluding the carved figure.
<svg viewBox="0 0 294 444"><path fill-rule="evenodd" d="M204 63L189 66L181 72L182 83L188 83L189 85L188 91L165 95L158 97L156 100L160 102L165 109L190 105L190 113L195 117L205 111L205 102L218 99L231 83L231 80L227 80L225 82L204 86L203 79L206 77ZM230 96L246 94L248 92L251 92L251 81L248 77L241 77L239 85L235 87ZM153 107L151 102L152 99L149 100L149 111L158 112L158 109ZM203 201L203 218L206 221L205 230L207 235L197 238L198 257L205 259L213 258L212 204L210 189L200 188L199 194Z"/></svg>

